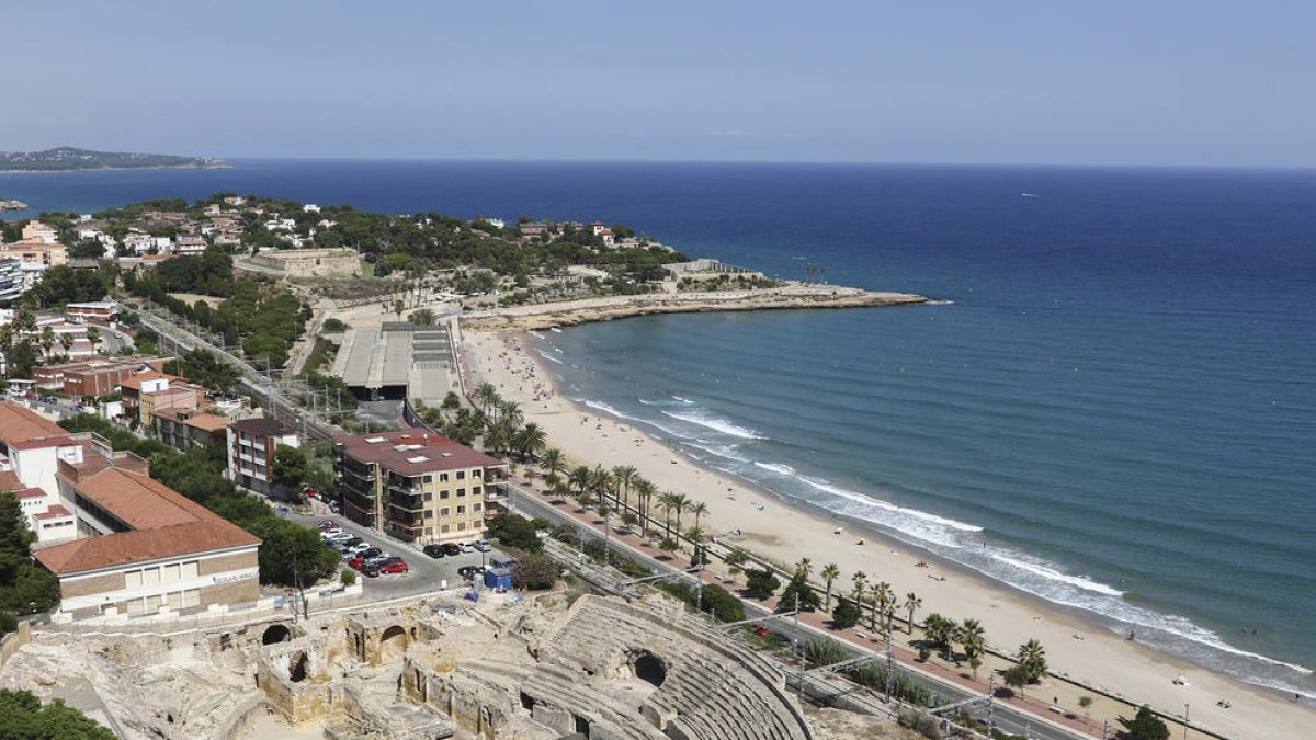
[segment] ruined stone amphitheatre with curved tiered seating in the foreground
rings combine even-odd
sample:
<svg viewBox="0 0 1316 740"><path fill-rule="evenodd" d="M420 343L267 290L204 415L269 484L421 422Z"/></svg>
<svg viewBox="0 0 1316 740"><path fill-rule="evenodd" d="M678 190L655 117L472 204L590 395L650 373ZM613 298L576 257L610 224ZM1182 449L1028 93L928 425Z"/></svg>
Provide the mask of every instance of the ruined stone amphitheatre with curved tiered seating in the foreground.
<svg viewBox="0 0 1316 740"><path fill-rule="evenodd" d="M0 686L89 690L92 716L133 739L822 736L775 664L666 596L497 599L442 593L172 633L34 631Z"/></svg>

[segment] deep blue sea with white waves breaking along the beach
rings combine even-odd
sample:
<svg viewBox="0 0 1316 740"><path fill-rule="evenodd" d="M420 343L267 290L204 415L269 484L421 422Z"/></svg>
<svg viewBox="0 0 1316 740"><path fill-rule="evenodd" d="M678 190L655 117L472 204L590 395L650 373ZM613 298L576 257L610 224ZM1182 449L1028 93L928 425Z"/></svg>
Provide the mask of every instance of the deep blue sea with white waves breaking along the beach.
<svg viewBox="0 0 1316 740"><path fill-rule="evenodd" d="M636 317L536 348L580 403L786 502L1316 697L1316 171L237 161L0 174L0 198L34 211L216 191L601 219L771 277L930 296Z"/></svg>

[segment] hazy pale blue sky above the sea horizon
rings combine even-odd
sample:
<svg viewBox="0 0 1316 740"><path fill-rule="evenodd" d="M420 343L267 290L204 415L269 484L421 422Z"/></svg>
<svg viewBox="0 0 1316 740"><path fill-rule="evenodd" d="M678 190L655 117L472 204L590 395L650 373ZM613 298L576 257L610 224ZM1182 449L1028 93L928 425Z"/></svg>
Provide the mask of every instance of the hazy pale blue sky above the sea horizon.
<svg viewBox="0 0 1316 740"><path fill-rule="evenodd" d="M0 149L1316 166L1316 3L11 3Z"/></svg>

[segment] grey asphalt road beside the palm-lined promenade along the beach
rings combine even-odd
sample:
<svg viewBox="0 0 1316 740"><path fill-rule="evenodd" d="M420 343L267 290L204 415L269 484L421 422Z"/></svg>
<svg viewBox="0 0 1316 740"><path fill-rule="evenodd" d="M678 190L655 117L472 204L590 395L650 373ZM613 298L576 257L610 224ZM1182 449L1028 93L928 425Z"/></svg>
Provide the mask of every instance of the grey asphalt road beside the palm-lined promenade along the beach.
<svg viewBox="0 0 1316 740"><path fill-rule="evenodd" d="M521 512L522 515L532 517L538 516L557 524L574 527L586 539L591 540L603 539L603 535L599 533L596 529L576 519L570 511L566 511L563 507L554 506L544 496L528 491L522 487L515 486L512 483L508 485L508 489L512 491L508 506ZM655 574L658 573L675 574L679 571L679 568L675 566L672 562L658 560L655 556L636 549L630 546L628 542L619 541L619 539L611 539L609 544L617 552L622 552L626 557L650 569ZM684 578L687 582L694 582L692 575L680 575L676 578ZM754 602L747 602L747 600L742 600L742 603L745 604L745 615L749 619L762 619L772 614L770 608L762 604L757 604ZM873 650L867 650L865 648L848 643L844 639L837 639L834 635L829 635L824 629L817 629L804 623L796 623L794 619L778 618L771 621L767 621L766 625L770 627L772 632L780 635L786 643L803 645L813 637L825 636L836 639L837 643L842 648L845 648L849 657L858 657L861 654L863 656L878 654ZM908 666L896 664L896 668L898 670L900 670L901 674L919 681L934 695L942 697L949 702L961 702L965 699L979 697L979 694L974 694L954 683L946 683L937 679L936 677L909 670ZM1075 737L1087 737L1086 735L1044 722L1042 719L1038 719L1029 712L1020 711L999 700L992 703L990 716L986 702L975 704L971 708L967 708L966 711L970 711L974 719L978 719L979 722L984 723L992 722L994 726L1003 732L1020 735L1029 739L1074 740Z"/></svg>

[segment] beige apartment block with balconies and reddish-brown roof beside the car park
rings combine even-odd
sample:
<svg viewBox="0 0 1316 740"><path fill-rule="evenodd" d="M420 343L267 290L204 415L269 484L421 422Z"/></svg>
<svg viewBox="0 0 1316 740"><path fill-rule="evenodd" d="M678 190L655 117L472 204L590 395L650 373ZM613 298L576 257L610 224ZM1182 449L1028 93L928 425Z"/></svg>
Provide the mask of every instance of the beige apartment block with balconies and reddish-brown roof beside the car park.
<svg viewBox="0 0 1316 740"><path fill-rule="evenodd" d="M505 462L425 429L342 435L334 453L343 514L404 541L478 540L507 502Z"/></svg>

